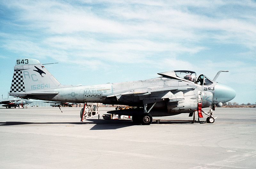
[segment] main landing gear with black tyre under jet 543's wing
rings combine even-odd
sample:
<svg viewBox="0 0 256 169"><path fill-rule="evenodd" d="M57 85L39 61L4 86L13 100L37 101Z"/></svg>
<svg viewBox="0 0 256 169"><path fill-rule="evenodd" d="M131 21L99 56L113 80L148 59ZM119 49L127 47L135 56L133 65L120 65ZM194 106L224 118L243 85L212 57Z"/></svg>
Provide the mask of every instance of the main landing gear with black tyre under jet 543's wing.
<svg viewBox="0 0 256 169"><path fill-rule="evenodd" d="M151 114L149 114L149 112L152 110L152 108L156 105L156 103L154 103L150 109L147 111L147 104L144 104L144 112L143 114L141 114L140 116L136 116L133 115L132 116L132 121L133 123L140 123L142 125L150 125L153 121L153 118L151 116Z"/></svg>

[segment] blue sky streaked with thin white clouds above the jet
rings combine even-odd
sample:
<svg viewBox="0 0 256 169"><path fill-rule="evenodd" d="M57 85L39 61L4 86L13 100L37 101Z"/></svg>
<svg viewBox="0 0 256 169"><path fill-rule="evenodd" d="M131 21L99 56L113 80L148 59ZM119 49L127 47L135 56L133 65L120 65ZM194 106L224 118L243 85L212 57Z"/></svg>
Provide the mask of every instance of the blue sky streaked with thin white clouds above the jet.
<svg viewBox="0 0 256 169"><path fill-rule="evenodd" d="M255 1L0 1L0 94L16 58L62 84L144 80L192 70L256 102Z"/></svg>

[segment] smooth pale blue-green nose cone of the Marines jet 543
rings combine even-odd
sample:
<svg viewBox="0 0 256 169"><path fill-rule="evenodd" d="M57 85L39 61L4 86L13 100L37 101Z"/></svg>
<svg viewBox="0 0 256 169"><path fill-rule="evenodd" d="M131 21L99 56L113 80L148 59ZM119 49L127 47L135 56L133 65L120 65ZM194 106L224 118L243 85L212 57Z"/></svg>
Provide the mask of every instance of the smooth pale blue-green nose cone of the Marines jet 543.
<svg viewBox="0 0 256 169"><path fill-rule="evenodd" d="M224 84L218 83L214 86L214 104L225 103L236 97L236 91Z"/></svg>

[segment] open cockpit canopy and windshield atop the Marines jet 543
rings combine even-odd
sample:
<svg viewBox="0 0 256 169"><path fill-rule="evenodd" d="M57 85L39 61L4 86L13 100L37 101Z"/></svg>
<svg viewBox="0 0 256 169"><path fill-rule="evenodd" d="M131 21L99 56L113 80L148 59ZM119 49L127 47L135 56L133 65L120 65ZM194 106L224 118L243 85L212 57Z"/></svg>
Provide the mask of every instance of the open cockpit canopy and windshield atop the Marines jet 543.
<svg viewBox="0 0 256 169"><path fill-rule="evenodd" d="M167 77L173 77L178 79L185 79L187 81L192 81L199 85L211 85L213 83L210 78L206 77L205 75L201 74L196 79L196 72L188 71L188 70L175 70L175 71L169 71L169 72L163 72L163 73L157 73L162 76Z"/></svg>

